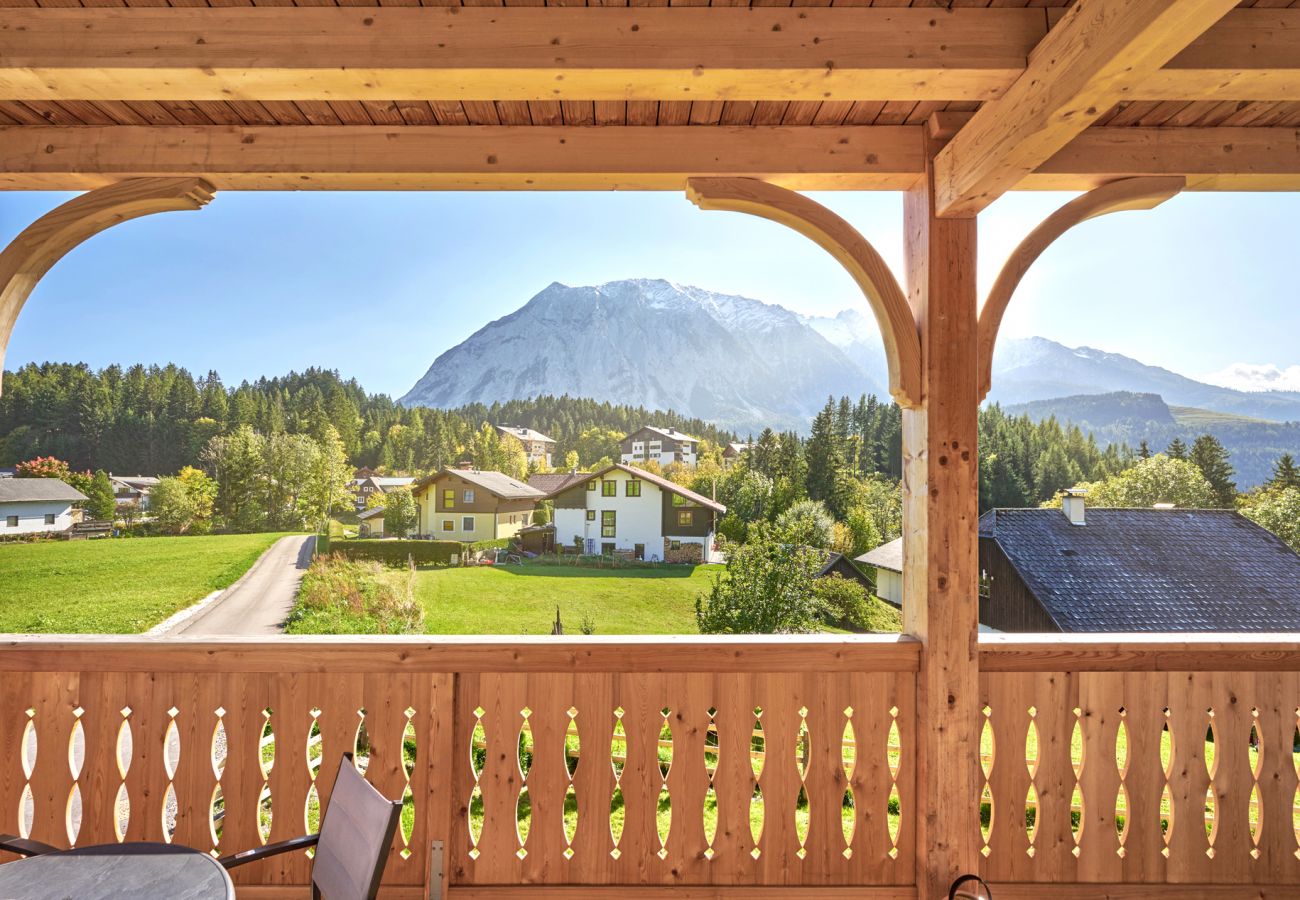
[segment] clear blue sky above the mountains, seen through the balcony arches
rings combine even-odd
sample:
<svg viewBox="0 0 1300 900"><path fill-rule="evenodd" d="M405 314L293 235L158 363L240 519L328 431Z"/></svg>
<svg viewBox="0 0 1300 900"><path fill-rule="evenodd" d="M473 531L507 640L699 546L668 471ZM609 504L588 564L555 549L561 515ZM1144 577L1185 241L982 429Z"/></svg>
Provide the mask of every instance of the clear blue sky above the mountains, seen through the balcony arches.
<svg viewBox="0 0 1300 900"><path fill-rule="evenodd" d="M0 241L72 195L0 194ZM819 194L902 272L898 194ZM982 290L1062 194L982 218ZM1300 367L1300 195L1187 194L1086 222L1026 277L1005 334L1201 377ZM228 384L324 365L404 393L441 351L551 281L664 277L810 313L861 303L822 250L681 194L229 192L69 254L18 317L6 368L176 362ZM1300 380L1300 368L1294 371Z"/></svg>

